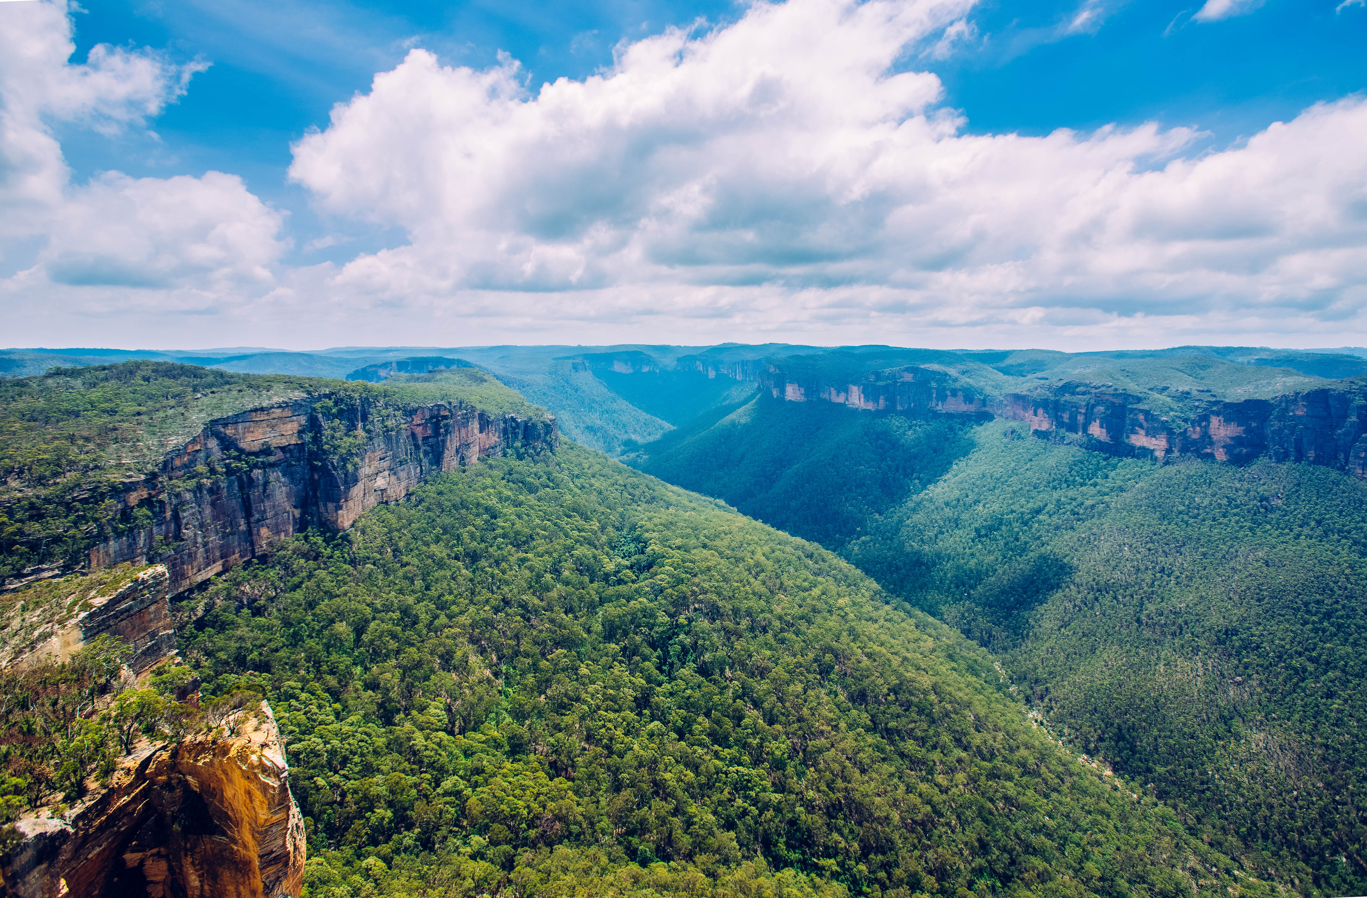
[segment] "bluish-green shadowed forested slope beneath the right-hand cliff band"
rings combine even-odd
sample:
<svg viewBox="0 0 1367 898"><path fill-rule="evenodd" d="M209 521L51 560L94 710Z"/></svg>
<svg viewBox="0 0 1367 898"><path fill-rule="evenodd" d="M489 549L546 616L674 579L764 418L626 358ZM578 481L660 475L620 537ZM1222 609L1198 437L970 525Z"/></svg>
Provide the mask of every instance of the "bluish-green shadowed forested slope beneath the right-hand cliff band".
<svg viewBox="0 0 1367 898"><path fill-rule="evenodd" d="M781 400L644 455L999 653L1070 745L1191 832L1307 891L1367 888L1360 480Z"/></svg>

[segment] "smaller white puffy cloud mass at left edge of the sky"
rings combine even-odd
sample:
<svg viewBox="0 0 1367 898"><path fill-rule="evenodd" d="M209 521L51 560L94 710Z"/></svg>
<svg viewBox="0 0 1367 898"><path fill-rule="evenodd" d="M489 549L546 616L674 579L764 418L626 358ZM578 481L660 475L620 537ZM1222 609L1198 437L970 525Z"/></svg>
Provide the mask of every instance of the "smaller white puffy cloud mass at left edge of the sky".
<svg viewBox="0 0 1367 898"><path fill-rule="evenodd" d="M94 46L71 63L64 1L0 8L0 249L44 238L34 264L0 282L7 302L38 299L72 312L126 308L124 291L170 291L165 306L202 306L273 286L282 213L234 175L142 178L107 172L72 185L52 133L67 122L116 135L141 127L205 68L159 53ZM182 291L179 299L172 294ZM154 301L153 301L154 305ZM11 321L25 314L11 309Z"/></svg>

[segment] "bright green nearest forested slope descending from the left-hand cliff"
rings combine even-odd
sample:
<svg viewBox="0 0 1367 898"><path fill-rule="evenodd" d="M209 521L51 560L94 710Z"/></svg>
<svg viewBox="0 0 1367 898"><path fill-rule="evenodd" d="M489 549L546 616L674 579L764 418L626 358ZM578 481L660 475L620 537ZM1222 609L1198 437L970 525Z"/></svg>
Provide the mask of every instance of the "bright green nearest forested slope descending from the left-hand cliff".
<svg viewBox="0 0 1367 898"><path fill-rule="evenodd" d="M183 612L206 692L272 701L309 895L1270 890L827 551L574 446Z"/></svg>

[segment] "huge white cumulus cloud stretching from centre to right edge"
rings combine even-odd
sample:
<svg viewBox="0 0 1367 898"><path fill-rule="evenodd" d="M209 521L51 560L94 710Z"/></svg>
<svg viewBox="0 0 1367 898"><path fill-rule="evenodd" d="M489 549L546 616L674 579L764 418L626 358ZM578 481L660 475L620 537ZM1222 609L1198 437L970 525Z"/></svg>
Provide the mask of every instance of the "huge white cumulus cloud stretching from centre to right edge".
<svg viewBox="0 0 1367 898"><path fill-rule="evenodd" d="M968 12L755 4L534 92L514 60L474 71L416 49L294 148L291 176L324 209L410 235L328 290L424 314L779 316L865 339L1192 314L1362 328L1367 104L1222 152L1155 124L965 134L939 81L897 66Z"/></svg>

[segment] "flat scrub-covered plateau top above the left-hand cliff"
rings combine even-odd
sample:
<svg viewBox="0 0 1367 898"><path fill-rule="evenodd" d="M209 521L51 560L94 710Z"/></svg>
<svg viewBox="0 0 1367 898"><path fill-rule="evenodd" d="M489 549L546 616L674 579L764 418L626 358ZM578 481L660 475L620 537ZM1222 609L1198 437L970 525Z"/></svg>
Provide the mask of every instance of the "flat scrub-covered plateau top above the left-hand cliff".
<svg viewBox="0 0 1367 898"><path fill-rule="evenodd" d="M30 569L81 567L92 545L146 530L156 500L144 491L141 507L122 502L130 487L142 489L138 484L212 421L305 398L332 420L291 436L353 470L368 439L394 432L406 413L429 403L545 420L543 409L469 368L369 384L131 361L0 379L0 585ZM364 424L343 422L362 405ZM154 485L193 491L260 469L271 457L269 446L231 451Z"/></svg>

